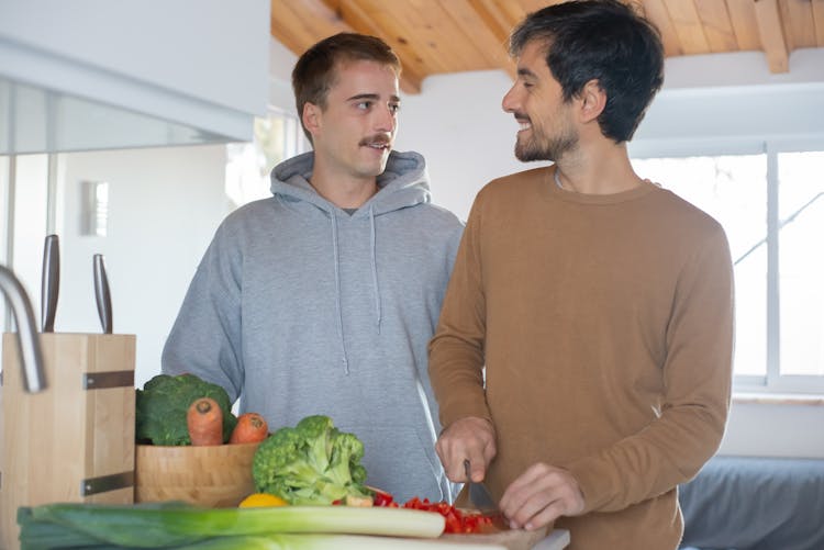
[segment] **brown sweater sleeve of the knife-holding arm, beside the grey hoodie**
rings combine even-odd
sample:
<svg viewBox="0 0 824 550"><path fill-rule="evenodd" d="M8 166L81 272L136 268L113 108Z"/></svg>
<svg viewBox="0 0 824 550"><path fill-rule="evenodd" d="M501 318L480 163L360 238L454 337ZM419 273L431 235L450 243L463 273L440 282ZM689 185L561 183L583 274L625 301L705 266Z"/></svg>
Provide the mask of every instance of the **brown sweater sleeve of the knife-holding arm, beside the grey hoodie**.
<svg viewBox="0 0 824 550"><path fill-rule="evenodd" d="M435 336L430 341L430 379L444 427L466 416L491 419L483 393L482 194L481 191L469 213Z"/></svg>

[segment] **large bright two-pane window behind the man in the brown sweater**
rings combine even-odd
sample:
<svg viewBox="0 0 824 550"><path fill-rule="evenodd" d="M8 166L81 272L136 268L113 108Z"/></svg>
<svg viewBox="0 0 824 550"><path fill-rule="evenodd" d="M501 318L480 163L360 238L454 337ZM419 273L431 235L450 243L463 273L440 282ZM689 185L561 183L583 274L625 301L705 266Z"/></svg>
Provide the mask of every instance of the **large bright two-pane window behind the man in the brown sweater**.
<svg viewBox="0 0 824 550"><path fill-rule="evenodd" d="M634 159L726 231L738 391L824 390L824 151Z"/></svg>

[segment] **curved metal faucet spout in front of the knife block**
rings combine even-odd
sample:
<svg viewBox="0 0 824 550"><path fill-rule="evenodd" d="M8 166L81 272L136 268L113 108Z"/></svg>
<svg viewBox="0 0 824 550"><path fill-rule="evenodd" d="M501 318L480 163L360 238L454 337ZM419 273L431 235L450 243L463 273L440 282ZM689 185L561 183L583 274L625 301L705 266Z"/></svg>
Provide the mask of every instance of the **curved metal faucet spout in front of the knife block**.
<svg viewBox="0 0 824 550"><path fill-rule="evenodd" d="M5 300L11 305L14 322L18 325L18 350L25 374L25 389L30 393L45 390L46 374L43 368L43 352L37 338L37 328L34 324L32 303L14 273L3 266L0 266L0 290L3 291Z"/></svg>

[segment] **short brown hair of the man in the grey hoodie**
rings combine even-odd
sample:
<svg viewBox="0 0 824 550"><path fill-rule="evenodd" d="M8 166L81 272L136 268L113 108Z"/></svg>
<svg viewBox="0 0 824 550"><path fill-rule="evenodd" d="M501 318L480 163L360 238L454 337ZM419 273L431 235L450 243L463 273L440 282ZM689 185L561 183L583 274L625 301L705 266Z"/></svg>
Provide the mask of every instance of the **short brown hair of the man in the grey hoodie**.
<svg viewBox="0 0 824 550"><path fill-rule="evenodd" d="M326 109L326 96L336 81L337 66L345 61L377 61L389 65L398 77L401 61L386 42L357 33L338 33L322 40L300 56L292 70L292 90L298 117L303 126L303 105L312 103ZM309 141L312 136L303 126Z"/></svg>

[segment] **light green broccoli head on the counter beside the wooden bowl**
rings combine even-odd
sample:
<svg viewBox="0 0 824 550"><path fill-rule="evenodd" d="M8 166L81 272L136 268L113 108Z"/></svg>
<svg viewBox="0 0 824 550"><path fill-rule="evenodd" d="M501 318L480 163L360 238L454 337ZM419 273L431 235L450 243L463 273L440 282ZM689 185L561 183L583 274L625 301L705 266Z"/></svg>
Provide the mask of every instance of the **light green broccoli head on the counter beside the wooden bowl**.
<svg viewBox="0 0 824 550"><path fill-rule="evenodd" d="M260 493L290 504L332 504L347 495L368 496L364 444L323 415L308 416L266 438L255 452L252 474Z"/></svg>

